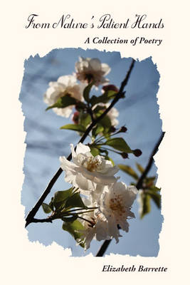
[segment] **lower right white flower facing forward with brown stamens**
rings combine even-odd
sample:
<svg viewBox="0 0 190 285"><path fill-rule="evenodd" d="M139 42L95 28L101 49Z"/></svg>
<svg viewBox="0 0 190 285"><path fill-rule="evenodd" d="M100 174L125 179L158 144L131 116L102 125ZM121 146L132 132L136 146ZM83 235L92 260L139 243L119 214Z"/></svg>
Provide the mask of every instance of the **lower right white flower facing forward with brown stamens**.
<svg viewBox="0 0 190 285"><path fill-rule="evenodd" d="M115 238L116 242L119 242L118 237L121 237L117 224L125 232L129 231L126 219L134 217L134 213L130 209L136 196L137 188L127 186L123 182L107 186L102 192L100 211L107 218L109 236Z"/></svg>

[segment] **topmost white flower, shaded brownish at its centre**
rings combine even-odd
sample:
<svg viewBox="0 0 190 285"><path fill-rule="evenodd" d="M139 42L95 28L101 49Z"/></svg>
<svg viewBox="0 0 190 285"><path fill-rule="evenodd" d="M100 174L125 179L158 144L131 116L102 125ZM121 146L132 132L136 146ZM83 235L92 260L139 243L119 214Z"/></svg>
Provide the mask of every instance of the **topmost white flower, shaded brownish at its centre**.
<svg viewBox="0 0 190 285"><path fill-rule="evenodd" d="M95 86L109 82L104 76L110 72L110 66L101 63L98 58L82 58L75 63L76 76L83 82L95 81Z"/></svg>

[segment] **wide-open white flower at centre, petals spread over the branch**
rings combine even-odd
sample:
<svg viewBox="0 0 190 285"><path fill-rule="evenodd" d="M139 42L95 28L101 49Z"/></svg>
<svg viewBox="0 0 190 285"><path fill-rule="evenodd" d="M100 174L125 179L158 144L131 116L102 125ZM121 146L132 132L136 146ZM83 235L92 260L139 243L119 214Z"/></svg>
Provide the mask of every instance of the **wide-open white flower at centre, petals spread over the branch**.
<svg viewBox="0 0 190 285"><path fill-rule="evenodd" d="M79 187L81 190L93 191L97 185L110 185L117 181L113 175L119 170L112 166L110 160L97 155L93 157L90 147L81 142L74 150L70 145L73 162L68 161L64 156L60 157L60 167L65 170L65 181Z"/></svg>

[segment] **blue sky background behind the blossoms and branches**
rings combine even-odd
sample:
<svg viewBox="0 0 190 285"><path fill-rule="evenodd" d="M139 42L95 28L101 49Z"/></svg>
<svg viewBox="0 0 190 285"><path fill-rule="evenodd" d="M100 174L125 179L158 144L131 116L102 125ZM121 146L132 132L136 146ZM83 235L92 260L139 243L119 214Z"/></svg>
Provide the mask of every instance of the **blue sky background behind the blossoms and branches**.
<svg viewBox="0 0 190 285"><path fill-rule="evenodd" d="M23 171L25 180L21 195L21 203L26 207L26 214L36 204L46 188L48 181L60 167L58 157L70 153L70 142L76 144L78 135L70 130L59 130L61 125L71 123L69 119L60 117L52 110L45 112L47 107L43 102L43 94L48 88L49 81L56 81L59 76L72 74L75 71L75 62L78 56L99 58L111 67L107 78L110 83L120 87L120 83L130 67L132 58L121 58L119 52L102 52L97 50L83 50L81 48L65 48L53 50L47 56L38 55L25 61L25 71L21 86L20 100L22 103L24 130L26 131L26 154ZM142 150L142 156L130 155L129 160L123 160L119 155L112 155L115 163L123 163L134 167L138 162L147 165L149 155L162 132L162 121L159 118L157 105L157 91L159 89L159 71L152 62L152 58L135 63L130 81L127 84L126 98L115 106L120 112L120 125L126 125L128 131L124 134L132 149ZM153 165L149 175L155 175L157 168ZM120 172L120 181L127 184L132 179ZM162 185L157 185L162 187ZM53 193L57 190L68 189L70 185L64 182L61 175L54 185ZM159 209L152 202L152 212L144 219L139 219L139 204L134 202L132 212L136 219L130 220L130 231L121 232L119 244L115 240L110 243L107 254L130 254L143 257L156 257L159 252L159 232L162 229L163 217ZM36 217L43 218L46 214L40 209ZM93 241L90 249L85 253L81 247L75 246L74 239L64 232L62 223L29 224L27 227L28 239L48 245L53 241L64 248L70 247L73 256L83 256L92 252L96 254L102 242Z"/></svg>

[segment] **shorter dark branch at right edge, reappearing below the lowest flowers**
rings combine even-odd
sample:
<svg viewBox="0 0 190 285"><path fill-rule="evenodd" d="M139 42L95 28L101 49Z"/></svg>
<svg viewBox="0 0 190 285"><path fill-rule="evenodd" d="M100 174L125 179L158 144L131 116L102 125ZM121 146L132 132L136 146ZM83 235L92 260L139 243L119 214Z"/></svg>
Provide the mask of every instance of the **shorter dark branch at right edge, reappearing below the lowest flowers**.
<svg viewBox="0 0 190 285"><path fill-rule="evenodd" d="M152 164L154 162L154 155L157 153L157 150L159 148L159 145L161 144L163 138L164 138L164 135L165 135L165 132L162 132L162 135L160 136L157 144L154 146L154 149L152 150L152 154L150 155L149 157L149 162L147 164L147 167L145 168L144 172L142 173L141 177L139 177L139 180L137 182L137 190L140 190L142 188L142 182L144 180L144 178L147 176L149 170L151 169L152 167ZM112 241L112 239L109 239L109 240L105 240L105 242L103 242L102 246L100 247L99 251L97 252L96 254L96 257L102 257L106 250L107 250L107 247L109 246L110 242Z"/></svg>

